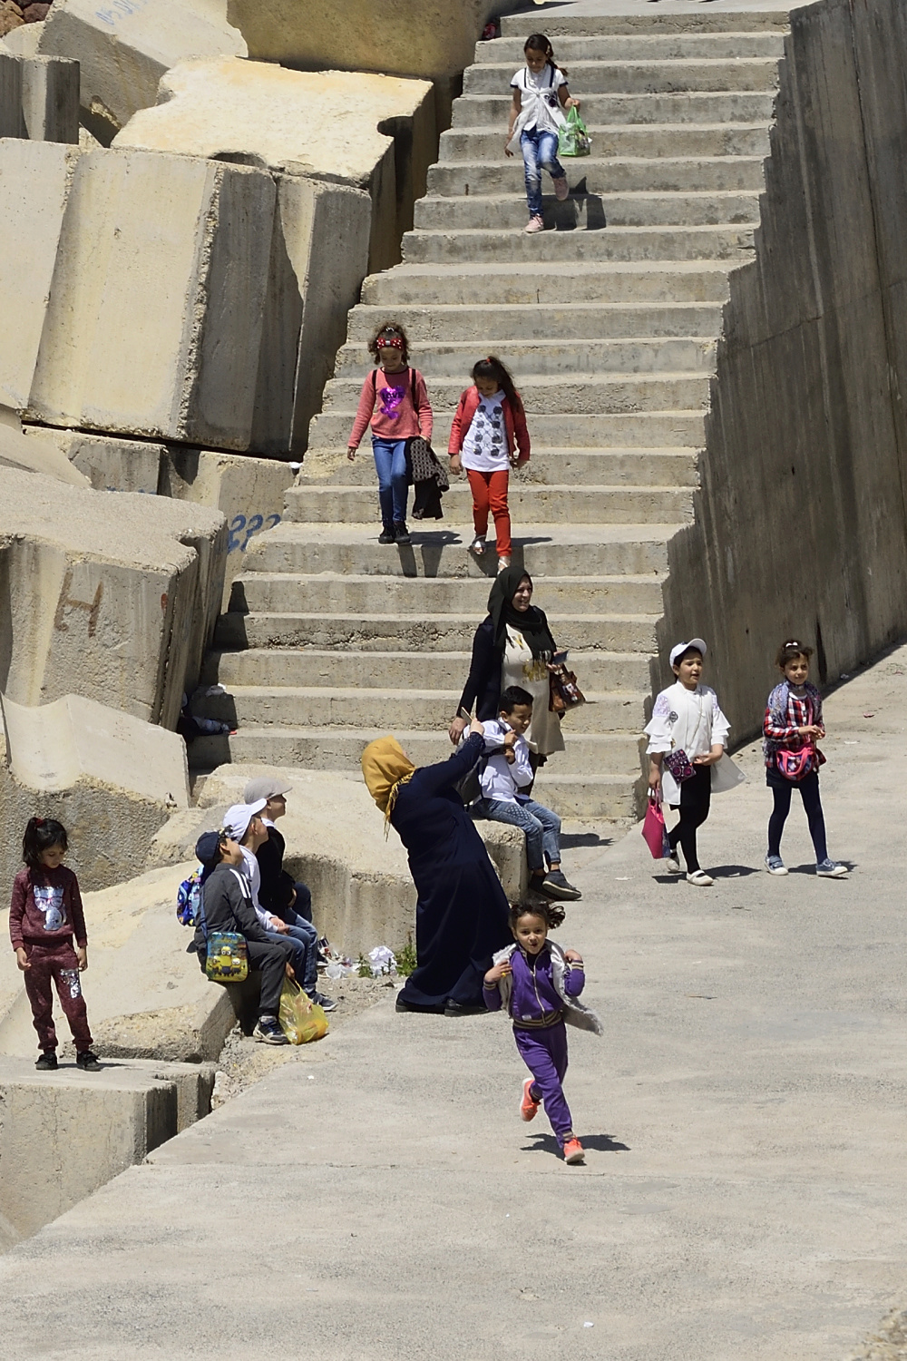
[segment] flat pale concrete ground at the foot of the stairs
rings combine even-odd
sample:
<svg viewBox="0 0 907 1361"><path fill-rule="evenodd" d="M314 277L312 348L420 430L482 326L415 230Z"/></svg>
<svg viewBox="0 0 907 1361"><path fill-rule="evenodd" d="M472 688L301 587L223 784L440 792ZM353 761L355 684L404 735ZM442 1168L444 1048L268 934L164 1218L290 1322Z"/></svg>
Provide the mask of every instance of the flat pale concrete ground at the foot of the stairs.
<svg viewBox="0 0 907 1361"><path fill-rule="evenodd" d="M566 852L605 1023L570 1040L585 1168L519 1123L500 1018L381 1002L1 1258L4 1358L855 1356L904 1302L906 676L907 646L827 704L850 879L797 808L790 876L761 870L755 747L713 889L638 830Z"/></svg>

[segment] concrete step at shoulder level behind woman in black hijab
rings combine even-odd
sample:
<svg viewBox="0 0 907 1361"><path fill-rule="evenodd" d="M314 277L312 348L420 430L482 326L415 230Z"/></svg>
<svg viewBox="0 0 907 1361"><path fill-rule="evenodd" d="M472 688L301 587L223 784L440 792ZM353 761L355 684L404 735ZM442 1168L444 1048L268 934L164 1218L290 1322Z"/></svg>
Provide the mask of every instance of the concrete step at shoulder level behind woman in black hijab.
<svg viewBox="0 0 907 1361"><path fill-rule="evenodd" d="M657 615L552 615L562 648L655 651ZM415 619L403 614L222 614L216 648L356 648L360 652L461 652L472 646L475 614Z"/></svg>

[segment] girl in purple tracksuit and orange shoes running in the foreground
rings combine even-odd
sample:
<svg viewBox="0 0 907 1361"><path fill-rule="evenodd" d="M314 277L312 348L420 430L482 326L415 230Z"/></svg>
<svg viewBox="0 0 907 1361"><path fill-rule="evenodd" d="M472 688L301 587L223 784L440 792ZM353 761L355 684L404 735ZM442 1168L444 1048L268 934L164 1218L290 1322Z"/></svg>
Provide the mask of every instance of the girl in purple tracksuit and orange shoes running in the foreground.
<svg viewBox="0 0 907 1361"><path fill-rule="evenodd" d="M548 940L548 932L563 920L563 908L553 904L513 906L510 930L515 945L494 957L483 996L490 1011L503 1009L509 1014L517 1048L532 1072L522 1085L521 1119L534 1120L544 1102L564 1162L582 1162L583 1147L574 1134L562 1086L567 1071L564 1021L596 1034L601 1034L601 1021L579 1000L586 981L582 958Z"/></svg>

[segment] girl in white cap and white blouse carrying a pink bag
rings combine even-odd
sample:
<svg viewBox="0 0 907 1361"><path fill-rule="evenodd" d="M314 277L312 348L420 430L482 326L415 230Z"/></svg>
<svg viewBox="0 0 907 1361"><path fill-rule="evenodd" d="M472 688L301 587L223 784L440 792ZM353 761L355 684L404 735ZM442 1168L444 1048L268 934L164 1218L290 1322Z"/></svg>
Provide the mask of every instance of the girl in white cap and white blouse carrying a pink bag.
<svg viewBox="0 0 907 1361"><path fill-rule="evenodd" d="M668 834L672 874L683 874L677 847L687 862L687 883L708 887L714 879L699 868L696 829L708 817L711 768L725 754L730 724L718 706L718 695L700 685L706 644L702 638L670 649L674 685L662 690L651 712L649 735L649 788L680 808L680 822Z"/></svg>

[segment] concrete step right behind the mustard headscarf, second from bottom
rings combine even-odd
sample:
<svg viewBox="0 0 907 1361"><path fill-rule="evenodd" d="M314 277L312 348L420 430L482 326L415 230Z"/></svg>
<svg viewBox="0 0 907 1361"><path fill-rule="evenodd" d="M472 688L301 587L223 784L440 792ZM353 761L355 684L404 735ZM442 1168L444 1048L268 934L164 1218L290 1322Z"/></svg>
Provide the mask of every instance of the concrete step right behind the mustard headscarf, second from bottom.
<svg viewBox="0 0 907 1361"><path fill-rule="evenodd" d="M386 731L386 729L385 729ZM196 738L192 743L193 764L205 749L228 749L224 758L265 766L302 766L306 770L355 770L370 742L382 736L377 725L363 728L241 728L230 738ZM416 765L434 765L453 755L446 727L439 732L396 729L404 750ZM564 731L566 751L558 753L558 768L564 774L597 776L639 773L640 739L631 734L582 734L572 738ZM200 750L196 753L196 747ZM553 764L553 757L551 762Z"/></svg>

